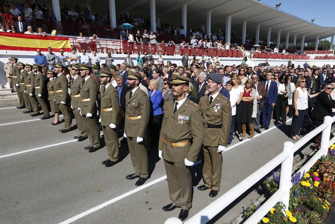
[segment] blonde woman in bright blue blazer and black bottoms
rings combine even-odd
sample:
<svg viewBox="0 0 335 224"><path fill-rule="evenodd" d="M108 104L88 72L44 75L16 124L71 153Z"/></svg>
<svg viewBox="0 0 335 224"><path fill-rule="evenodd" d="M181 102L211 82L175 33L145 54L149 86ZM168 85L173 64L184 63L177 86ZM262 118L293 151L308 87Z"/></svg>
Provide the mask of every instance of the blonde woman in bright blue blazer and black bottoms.
<svg viewBox="0 0 335 224"><path fill-rule="evenodd" d="M149 117L149 134L151 145L156 146L159 140L159 132L162 126L163 110L162 110L162 92L158 90L159 84L156 79L149 82L148 92L150 99L150 117Z"/></svg>

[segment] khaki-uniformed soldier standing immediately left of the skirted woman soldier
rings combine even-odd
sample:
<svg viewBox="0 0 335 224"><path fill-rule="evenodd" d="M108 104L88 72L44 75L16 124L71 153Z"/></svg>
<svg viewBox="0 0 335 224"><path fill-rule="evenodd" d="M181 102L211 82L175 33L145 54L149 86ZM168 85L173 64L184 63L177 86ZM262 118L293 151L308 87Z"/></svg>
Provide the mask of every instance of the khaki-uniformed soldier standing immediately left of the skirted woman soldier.
<svg viewBox="0 0 335 224"><path fill-rule="evenodd" d="M41 72L42 66L39 64L32 64L32 70L34 71L34 73L36 73L35 76L35 83L34 83L34 87L35 87L35 95L37 100L39 101L41 108L43 110L44 116L42 118L40 118L41 120L45 120L50 118L50 114L49 114L49 108L48 105L46 103L46 89L45 89L45 76L43 75L43 73ZM36 116L34 114L34 116Z"/></svg>

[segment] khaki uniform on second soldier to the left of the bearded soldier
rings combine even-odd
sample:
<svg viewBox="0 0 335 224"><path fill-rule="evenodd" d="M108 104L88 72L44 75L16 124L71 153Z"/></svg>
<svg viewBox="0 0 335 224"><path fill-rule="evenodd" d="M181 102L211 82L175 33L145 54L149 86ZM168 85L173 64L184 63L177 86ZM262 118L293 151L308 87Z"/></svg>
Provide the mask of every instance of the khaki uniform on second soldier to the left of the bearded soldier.
<svg viewBox="0 0 335 224"><path fill-rule="evenodd" d="M80 97L78 107L81 109L80 114L83 117L84 127L90 144L94 148L100 148L100 130L97 120L98 99L97 85L94 80L89 77L80 88ZM92 114L92 117L86 118L86 114Z"/></svg>

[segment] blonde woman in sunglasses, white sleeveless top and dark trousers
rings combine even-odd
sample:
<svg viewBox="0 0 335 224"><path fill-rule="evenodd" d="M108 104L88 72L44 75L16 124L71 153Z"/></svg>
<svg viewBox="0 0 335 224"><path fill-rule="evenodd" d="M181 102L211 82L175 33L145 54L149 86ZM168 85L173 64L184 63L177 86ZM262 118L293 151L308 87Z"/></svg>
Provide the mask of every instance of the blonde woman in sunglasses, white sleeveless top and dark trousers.
<svg viewBox="0 0 335 224"><path fill-rule="evenodd" d="M326 87L330 87L330 86L332 87L333 85L328 85ZM330 92L331 92L331 90L330 90ZM320 93L316 93L316 94L312 94L312 95L308 94L308 91L306 89L306 79L305 78L299 78L296 81L295 91L293 93L293 111L295 111L295 112L294 112L294 116L292 118L292 124L291 124L291 138L294 141L298 141L300 139L298 135L299 135L299 131L300 131L300 128L301 128L301 124L303 123L303 119L304 119L304 117L307 113L308 96L313 98L313 97L315 97L319 94ZM319 97L317 98L316 101L318 101L318 99L319 99ZM313 116L314 112L317 111L320 107L321 107L320 104L319 104L319 106L317 106L317 104L315 103L315 107L314 107L312 116ZM334 102L334 107L335 107L335 102ZM323 119L322 119L322 122L323 122Z"/></svg>

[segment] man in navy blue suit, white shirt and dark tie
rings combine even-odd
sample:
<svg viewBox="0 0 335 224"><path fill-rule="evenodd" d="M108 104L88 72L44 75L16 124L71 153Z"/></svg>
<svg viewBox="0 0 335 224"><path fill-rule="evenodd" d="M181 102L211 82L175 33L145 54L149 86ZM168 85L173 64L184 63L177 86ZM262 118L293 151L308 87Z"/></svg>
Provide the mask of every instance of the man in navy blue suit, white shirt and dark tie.
<svg viewBox="0 0 335 224"><path fill-rule="evenodd" d="M264 106L262 108L263 125L260 128L265 130L269 129L273 107L276 105L278 96L277 83L271 81L272 75L272 72L267 72L266 81L263 82L266 94L263 98Z"/></svg>

